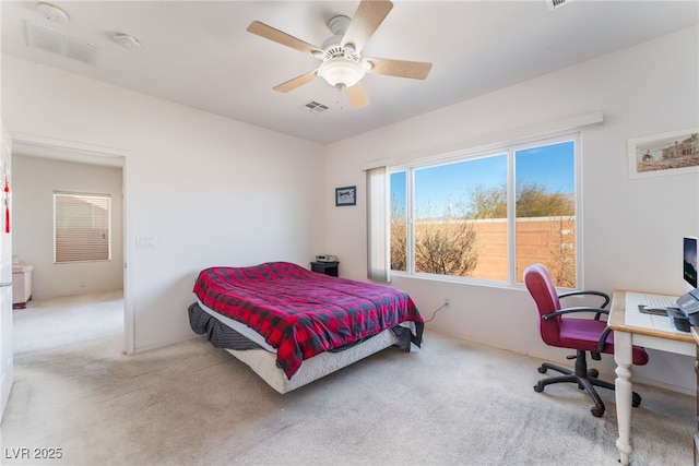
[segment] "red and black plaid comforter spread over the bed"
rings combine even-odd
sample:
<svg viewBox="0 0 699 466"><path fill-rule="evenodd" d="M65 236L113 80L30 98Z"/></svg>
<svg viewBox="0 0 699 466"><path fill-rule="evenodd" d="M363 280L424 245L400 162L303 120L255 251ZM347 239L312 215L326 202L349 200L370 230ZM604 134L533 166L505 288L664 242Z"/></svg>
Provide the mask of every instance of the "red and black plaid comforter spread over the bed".
<svg viewBox="0 0 699 466"><path fill-rule="evenodd" d="M422 343L423 318L404 291L288 262L205 268L194 294L210 309L262 335L289 379L304 359L402 322L416 323L413 343Z"/></svg>

